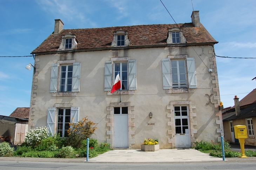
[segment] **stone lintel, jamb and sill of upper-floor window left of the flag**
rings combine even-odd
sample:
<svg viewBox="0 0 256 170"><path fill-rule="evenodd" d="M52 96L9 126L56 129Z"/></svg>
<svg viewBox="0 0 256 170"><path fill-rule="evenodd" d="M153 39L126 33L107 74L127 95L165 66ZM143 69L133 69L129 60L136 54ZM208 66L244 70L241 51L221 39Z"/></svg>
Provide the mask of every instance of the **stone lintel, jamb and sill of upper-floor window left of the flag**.
<svg viewBox="0 0 256 170"><path fill-rule="evenodd" d="M67 65L67 64L73 64L74 62L75 62L75 60L60 60L60 61L57 61L57 64L58 65ZM60 69L61 69L61 67L58 68L58 81L57 81L57 87L58 87L57 89L58 90L60 88ZM56 97L56 96L77 96L77 92L58 91L57 93L52 93L52 97Z"/></svg>

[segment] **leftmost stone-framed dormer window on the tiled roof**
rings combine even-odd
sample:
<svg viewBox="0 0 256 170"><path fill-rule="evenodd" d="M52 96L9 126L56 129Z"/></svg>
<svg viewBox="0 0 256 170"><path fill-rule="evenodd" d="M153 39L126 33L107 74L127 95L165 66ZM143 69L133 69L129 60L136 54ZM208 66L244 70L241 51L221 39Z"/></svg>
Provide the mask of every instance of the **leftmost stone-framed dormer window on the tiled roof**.
<svg viewBox="0 0 256 170"><path fill-rule="evenodd" d="M64 36L62 36L61 44L59 47L60 50L71 50L76 48L77 40L75 38L75 35L72 33L67 33Z"/></svg>

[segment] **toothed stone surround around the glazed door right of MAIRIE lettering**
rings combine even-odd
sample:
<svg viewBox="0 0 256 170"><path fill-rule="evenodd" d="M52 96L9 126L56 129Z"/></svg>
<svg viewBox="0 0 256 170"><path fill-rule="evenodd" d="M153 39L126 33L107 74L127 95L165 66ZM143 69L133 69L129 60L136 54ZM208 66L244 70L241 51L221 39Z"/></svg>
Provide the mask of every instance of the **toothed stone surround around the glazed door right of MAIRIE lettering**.
<svg viewBox="0 0 256 170"><path fill-rule="evenodd" d="M196 141L194 134L197 134L197 129L194 129L194 125L197 125L197 122L193 120L193 117L196 117L196 105L191 101L170 101L170 105L167 105L167 109L170 110L170 113L167 113L167 125L169 127L168 134L170 138L168 138L168 143L172 143L172 149L175 149L175 124L174 124L174 106L187 105L189 109L189 124L190 124L190 140L191 143ZM170 119L169 119L170 118Z"/></svg>

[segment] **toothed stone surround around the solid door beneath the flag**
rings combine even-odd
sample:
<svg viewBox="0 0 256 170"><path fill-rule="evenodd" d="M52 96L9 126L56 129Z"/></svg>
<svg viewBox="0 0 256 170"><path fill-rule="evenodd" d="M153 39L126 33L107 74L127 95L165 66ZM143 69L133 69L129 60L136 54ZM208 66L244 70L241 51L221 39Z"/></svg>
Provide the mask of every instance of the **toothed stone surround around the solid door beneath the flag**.
<svg viewBox="0 0 256 170"><path fill-rule="evenodd" d="M135 139L132 138L132 135L135 135L135 130L132 130L132 127L135 127L135 123L132 122L132 119L135 118L135 115L132 114L132 110L134 110L134 106L130 106L130 102L121 102L121 103L110 103L110 106L107 107L107 111L110 113L107 115L107 127L109 130L106 131L109 138L107 139L107 143L110 144L110 148L113 148L113 121L114 121L114 107L128 107L128 147L132 149L132 144L135 144Z"/></svg>

